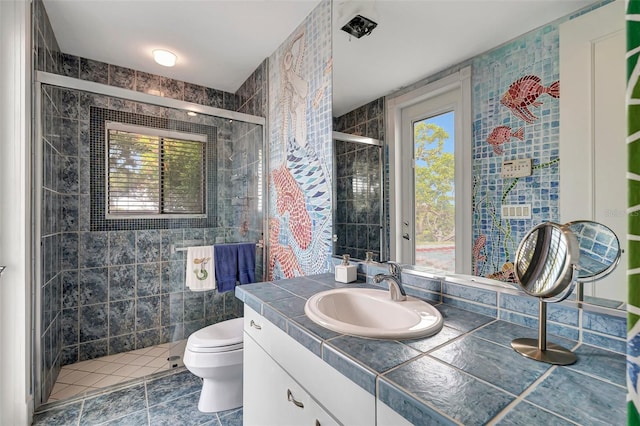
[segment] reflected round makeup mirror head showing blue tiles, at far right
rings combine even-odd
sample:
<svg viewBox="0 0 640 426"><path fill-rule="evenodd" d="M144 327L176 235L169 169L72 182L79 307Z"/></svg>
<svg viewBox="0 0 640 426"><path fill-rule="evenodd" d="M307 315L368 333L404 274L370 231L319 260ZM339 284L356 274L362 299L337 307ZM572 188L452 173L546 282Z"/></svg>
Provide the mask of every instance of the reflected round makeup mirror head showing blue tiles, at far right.
<svg viewBox="0 0 640 426"><path fill-rule="evenodd" d="M576 280L597 281L616 269L622 249L615 232L591 220L576 220L566 225L576 236L580 248Z"/></svg>

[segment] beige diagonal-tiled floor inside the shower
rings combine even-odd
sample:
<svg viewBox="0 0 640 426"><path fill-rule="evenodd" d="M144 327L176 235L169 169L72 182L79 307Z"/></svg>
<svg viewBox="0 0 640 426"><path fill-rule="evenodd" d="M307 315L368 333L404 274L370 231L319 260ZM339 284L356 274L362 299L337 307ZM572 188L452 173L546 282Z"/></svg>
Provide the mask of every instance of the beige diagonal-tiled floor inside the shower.
<svg viewBox="0 0 640 426"><path fill-rule="evenodd" d="M168 360L171 348L184 347L184 342L165 343L131 352L65 365L60 370L49 402L68 399L149 374L166 371L176 362ZM182 354L181 350L179 349ZM184 365L182 357L178 366Z"/></svg>

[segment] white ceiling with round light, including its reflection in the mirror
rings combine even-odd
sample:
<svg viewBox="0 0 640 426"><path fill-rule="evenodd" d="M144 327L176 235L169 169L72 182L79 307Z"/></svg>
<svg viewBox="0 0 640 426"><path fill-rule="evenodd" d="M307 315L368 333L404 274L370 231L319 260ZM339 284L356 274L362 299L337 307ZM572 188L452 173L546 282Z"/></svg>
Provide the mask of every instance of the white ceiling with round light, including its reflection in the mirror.
<svg viewBox="0 0 640 426"><path fill-rule="evenodd" d="M334 0L333 115L485 52L594 0ZM318 0L44 0L63 52L235 92ZM356 14L378 23L350 38ZM178 64L165 68L151 50Z"/></svg>

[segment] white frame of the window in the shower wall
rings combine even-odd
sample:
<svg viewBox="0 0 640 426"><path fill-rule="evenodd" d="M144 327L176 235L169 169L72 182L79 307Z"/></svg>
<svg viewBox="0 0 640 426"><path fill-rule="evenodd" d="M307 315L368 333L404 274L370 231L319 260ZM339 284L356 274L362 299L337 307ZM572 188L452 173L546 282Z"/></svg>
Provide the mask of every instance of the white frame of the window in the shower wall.
<svg viewBox="0 0 640 426"><path fill-rule="evenodd" d="M122 214L122 213L110 213L109 212L109 131L116 130L128 133L138 133L142 135L148 135L159 138L178 139L193 142L201 142L204 144L204 188L203 188L203 213L136 213L136 214ZM104 122L104 214L105 219L118 220L118 219L191 219L191 218L207 218L208 216L208 185L209 185L209 167L207 158L207 135L199 133L187 133L179 132L169 129L161 129L155 127L139 126L135 124L121 123L117 121L106 120ZM160 166L160 164L158 165ZM162 198L162 188L160 188Z"/></svg>

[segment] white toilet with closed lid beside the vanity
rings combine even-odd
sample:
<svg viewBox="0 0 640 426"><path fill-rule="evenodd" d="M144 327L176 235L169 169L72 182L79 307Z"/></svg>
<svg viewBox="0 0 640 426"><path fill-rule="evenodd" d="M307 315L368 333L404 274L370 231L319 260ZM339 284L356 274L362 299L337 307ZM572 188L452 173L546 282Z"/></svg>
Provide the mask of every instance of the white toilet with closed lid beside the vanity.
<svg viewBox="0 0 640 426"><path fill-rule="evenodd" d="M242 406L243 319L219 322L187 340L184 365L204 381L198 410L211 413Z"/></svg>

